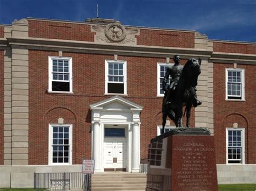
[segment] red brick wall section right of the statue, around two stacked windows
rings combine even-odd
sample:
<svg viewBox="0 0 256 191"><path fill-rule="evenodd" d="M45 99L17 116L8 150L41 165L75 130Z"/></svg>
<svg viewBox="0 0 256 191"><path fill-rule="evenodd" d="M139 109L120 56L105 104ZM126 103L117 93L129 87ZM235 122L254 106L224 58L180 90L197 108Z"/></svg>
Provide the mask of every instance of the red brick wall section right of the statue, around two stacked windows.
<svg viewBox="0 0 256 191"><path fill-rule="evenodd" d="M246 164L255 164L255 73L253 65L237 65L245 69L245 100L225 101L225 68L231 64L213 64L214 136L217 164L226 163L226 128L245 128Z"/></svg>

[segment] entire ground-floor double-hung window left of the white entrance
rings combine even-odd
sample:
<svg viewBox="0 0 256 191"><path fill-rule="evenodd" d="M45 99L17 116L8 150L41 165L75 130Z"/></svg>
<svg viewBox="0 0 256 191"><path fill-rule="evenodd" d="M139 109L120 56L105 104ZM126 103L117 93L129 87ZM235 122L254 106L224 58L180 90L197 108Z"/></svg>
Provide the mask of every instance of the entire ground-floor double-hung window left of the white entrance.
<svg viewBox="0 0 256 191"><path fill-rule="evenodd" d="M49 164L72 164L72 125L49 125Z"/></svg>

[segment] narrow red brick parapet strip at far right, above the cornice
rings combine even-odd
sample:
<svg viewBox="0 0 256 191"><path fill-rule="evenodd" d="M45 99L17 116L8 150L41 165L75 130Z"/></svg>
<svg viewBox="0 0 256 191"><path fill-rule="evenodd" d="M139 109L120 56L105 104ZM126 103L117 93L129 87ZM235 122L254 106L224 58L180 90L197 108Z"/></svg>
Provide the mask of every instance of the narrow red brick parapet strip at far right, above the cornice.
<svg viewBox="0 0 256 191"><path fill-rule="evenodd" d="M242 53L242 54L256 54L256 45L213 42L213 51L228 52L228 53Z"/></svg>

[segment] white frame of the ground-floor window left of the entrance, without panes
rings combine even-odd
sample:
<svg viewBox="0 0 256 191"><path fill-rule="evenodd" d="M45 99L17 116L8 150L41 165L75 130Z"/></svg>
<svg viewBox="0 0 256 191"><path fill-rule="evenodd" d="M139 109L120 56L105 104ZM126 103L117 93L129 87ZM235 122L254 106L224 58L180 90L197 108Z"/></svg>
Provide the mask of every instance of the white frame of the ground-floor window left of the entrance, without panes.
<svg viewBox="0 0 256 191"><path fill-rule="evenodd" d="M58 163L52 162L52 139L53 139L53 127L55 126L62 126L62 127L69 127L69 163ZM72 165L72 135L73 135L73 126L72 124L49 124L49 147L48 147L48 164L49 165Z"/></svg>

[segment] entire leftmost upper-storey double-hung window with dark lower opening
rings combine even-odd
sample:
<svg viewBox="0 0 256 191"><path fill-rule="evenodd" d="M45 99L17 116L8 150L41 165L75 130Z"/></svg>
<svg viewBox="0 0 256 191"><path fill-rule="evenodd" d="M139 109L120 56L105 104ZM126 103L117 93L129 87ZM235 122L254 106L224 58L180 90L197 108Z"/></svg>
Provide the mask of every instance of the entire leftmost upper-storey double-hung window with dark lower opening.
<svg viewBox="0 0 256 191"><path fill-rule="evenodd" d="M49 56L49 91L72 93L72 58Z"/></svg>

